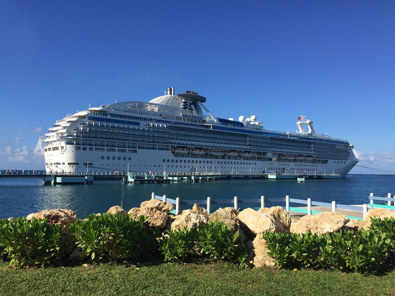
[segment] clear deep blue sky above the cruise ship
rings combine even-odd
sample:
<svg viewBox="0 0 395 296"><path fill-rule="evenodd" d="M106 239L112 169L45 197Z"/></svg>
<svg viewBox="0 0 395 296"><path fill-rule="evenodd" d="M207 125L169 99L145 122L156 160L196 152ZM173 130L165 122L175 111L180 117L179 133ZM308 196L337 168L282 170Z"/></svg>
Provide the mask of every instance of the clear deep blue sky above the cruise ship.
<svg viewBox="0 0 395 296"><path fill-rule="evenodd" d="M0 169L44 169L68 113L168 87L217 117L354 144L395 173L393 1L0 1ZM377 173L355 167L351 173Z"/></svg>

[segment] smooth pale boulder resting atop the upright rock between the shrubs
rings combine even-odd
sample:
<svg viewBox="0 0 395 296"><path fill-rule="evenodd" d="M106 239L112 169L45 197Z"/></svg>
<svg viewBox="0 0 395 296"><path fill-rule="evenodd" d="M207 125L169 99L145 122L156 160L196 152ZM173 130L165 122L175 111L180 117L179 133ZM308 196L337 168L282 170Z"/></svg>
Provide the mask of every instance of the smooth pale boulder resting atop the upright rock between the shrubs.
<svg viewBox="0 0 395 296"><path fill-rule="evenodd" d="M237 217L239 221L245 223L246 227L254 234L261 234L266 230L275 232L280 231L276 229L275 223L268 215L259 213L252 208L246 208L241 211Z"/></svg>

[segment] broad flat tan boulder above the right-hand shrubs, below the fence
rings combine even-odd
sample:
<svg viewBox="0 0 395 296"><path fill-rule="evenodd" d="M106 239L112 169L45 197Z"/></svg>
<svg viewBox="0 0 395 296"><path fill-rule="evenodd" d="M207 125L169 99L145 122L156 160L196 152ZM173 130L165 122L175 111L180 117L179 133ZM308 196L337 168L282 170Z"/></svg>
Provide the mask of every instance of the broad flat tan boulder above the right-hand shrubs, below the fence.
<svg viewBox="0 0 395 296"><path fill-rule="evenodd" d="M316 234L332 233L341 229L350 219L339 212L322 212L314 215L305 215L299 221L291 223L292 233L302 234L313 232Z"/></svg>

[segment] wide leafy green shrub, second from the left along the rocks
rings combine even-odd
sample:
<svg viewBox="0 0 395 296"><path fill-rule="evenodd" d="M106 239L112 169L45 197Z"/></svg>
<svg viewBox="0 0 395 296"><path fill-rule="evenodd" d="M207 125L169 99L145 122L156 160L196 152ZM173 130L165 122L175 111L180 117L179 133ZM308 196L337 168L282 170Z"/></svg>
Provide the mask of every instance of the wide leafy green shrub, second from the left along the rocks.
<svg viewBox="0 0 395 296"><path fill-rule="evenodd" d="M158 245L159 229L150 229L144 216L133 220L120 214L89 215L68 229L77 246L94 261L131 259Z"/></svg>

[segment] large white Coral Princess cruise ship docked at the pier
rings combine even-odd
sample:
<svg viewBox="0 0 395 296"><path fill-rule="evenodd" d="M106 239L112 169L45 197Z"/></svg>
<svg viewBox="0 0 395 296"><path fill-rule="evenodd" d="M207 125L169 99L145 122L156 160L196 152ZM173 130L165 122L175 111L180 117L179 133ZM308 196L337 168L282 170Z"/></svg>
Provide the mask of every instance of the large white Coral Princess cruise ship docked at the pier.
<svg viewBox="0 0 395 296"><path fill-rule="evenodd" d="M168 88L149 102L126 101L68 114L40 137L47 172L334 173L357 164L346 139L269 131L256 116L214 116L198 92ZM203 112L205 111L205 112Z"/></svg>

